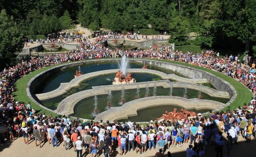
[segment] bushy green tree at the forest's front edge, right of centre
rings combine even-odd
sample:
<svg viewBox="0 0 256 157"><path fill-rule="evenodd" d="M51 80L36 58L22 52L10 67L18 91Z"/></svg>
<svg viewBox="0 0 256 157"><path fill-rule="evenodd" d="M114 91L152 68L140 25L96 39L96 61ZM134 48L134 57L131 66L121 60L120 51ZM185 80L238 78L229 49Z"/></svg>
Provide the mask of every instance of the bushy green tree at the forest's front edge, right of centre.
<svg viewBox="0 0 256 157"><path fill-rule="evenodd" d="M170 21L169 24L169 42L174 42L175 45L188 44L188 33L190 22L182 16L177 16Z"/></svg>

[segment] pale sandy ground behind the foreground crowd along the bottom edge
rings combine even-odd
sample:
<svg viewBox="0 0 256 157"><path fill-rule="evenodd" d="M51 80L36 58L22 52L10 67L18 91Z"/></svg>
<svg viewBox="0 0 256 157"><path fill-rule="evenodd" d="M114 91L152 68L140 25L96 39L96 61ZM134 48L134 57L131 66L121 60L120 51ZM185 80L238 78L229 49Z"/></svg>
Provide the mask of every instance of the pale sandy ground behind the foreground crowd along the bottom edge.
<svg viewBox="0 0 256 157"><path fill-rule="evenodd" d="M225 137L225 136L224 136ZM62 144L58 147L52 146L52 144L45 143L42 148L36 147L34 140L30 141L29 145L24 144L23 138L16 139L14 141L7 141L5 144L0 145L0 157L34 157L35 155L41 156L59 156L59 157L75 157L76 152L74 152L73 148L70 150L65 150ZM250 143L245 142L245 139L242 139L240 136L238 139L238 145L233 145L233 150L231 152L230 157L255 157L255 153L252 151L255 149L256 141L252 140ZM186 156L186 148L188 144L183 144L182 147L170 147L167 151L171 152L172 157L185 157ZM165 151L165 155L167 155L167 151ZM83 149L83 157L91 157L91 155L85 153L85 149ZM117 152L120 153L120 150L117 148ZM121 157L119 154L110 155L110 157ZM154 157L156 151L155 150L147 150L143 155L144 157ZM223 156L226 155L226 146L224 146ZM102 153L99 155L100 157L104 157ZM130 151L124 157L139 157L142 155L135 154L135 151ZM216 152L214 151L214 146L208 146L206 150L205 157L215 157Z"/></svg>

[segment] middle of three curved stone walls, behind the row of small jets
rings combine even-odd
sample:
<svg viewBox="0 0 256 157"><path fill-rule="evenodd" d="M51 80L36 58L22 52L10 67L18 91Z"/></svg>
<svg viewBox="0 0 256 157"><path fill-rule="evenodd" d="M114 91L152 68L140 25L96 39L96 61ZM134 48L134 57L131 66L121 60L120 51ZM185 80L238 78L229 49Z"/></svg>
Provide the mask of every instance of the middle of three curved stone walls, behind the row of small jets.
<svg viewBox="0 0 256 157"><path fill-rule="evenodd" d="M183 87L185 86L184 82L170 82L169 80L161 80L161 81L149 81L149 82L137 82L133 84L120 84L120 85L107 85L107 86L94 86L92 89L80 91L78 93L69 95L64 100L62 100L58 107L57 107L57 113L61 115L70 115L74 113L74 107L75 104L77 104L80 100L83 100L87 97L92 97L94 95L102 95L107 94L108 91L120 91L122 87L125 89L136 89L137 85L139 85L139 88L146 88L146 85L149 85L149 87L153 86L162 86L164 88L170 88L172 87ZM223 92L223 91L217 91L213 88L209 88L206 86L201 86L199 84L186 84L187 88L200 88L200 91L207 93L208 95L212 97L224 97L224 98L230 98L229 93ZM187 99L186 99L187 100ZM188 99L190 100L190 99ZM222 105L224 106L224 104ZM216 109L216 108L215 108Z"/></svg>

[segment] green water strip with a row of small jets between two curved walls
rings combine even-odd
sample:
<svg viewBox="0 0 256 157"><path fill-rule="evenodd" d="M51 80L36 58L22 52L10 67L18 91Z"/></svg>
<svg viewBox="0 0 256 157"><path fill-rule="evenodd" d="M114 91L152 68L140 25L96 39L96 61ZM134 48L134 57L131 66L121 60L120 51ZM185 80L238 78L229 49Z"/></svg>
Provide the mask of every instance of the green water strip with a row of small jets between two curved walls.
<svg viewBox="0 0 256 157"><path fill-rule="evenodd" d="M153 88L149 88L149 96L153 95ZM184 88L173 88L173 96L183 97ZM197 98L198 95L197 90L195 89L187 89L188 98ZM139 92L139 97L145 97L146 88L141 88ZM169 95L170 88L157 87L156 95ZM125 102L129 102L135 100L135 96L137 95L136 89L125 90L124 99ZM219 97L210 97L210 95L201 92L202 99L206 100L215 100L218 102L226 103L229 99L219 98ZM98 97L98 112L101 113L107 108L107 95L97 95ZM112 107L121 106L121 91L112 91ZM72 116L81 117L86 119L94 119L92 113L94 112L94 97L88 97L81 101L79 101L74 107L74 113ZM152 113L148 113L152 114ZM153 114L153 116L155 116ZM137 121L142 121L141 119L137 119Z"/></svg>

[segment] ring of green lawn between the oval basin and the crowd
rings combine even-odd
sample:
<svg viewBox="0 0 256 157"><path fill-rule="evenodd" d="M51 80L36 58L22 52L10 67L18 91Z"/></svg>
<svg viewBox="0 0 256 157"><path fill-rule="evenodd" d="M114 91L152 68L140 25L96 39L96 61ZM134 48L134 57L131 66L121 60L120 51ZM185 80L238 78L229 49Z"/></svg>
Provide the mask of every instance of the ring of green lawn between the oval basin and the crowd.
<svg viewBox="0 0 256 157"><path fill-rule="evenodd" d="M145 60L156 60L156 59L145 59ZM236 99L229 105L231 109L235 109L238 106L242 106L243 103L248 103L251 100L251 97L253 96L252 93L245 86L243 86L240 82L232 79L229 76L226 76L226 75L223 75L221 73L212 71L210 69L206 69L206 68L202 68L202 67L199 67L199 66L194 66L194 65L190 65L190 64L186 64L186 63L182 63L182 62L175 62L175 61L169 61L169 60L160 60L160 61L180 64L180 65L185 65L185 66L190 66L190 67L193 67L193 68L196 68L196 69L207 71L209 73L212 73L213 75L216 75L216 76L222 78L226 82L229 82L235 88L235 90L237 91ZM60 64L58 64L58 65L60 65ZM54 65L54 66L57 66L57 65ZM25 102L25 103L31 102L32 108L40 110L40 112L45 112L46 115L52 114L53 116L57 116L56 113L52 113L50 111L47 111L47 110L41 108L40 106L37 106L34 102L32 102L32 100L30 100L30 98L26 94L26 86L27 86L27 83L29 82L29 80L32 79L32 77L34 77L35 75L41 73L42 71L50 69L54 66L48 66L46 68L39 69L39 70L34 71L34 72L32 72L28 75L25 75L20 80L18 80L16 82L17 91L15 91L13 93L13 95L15 96L15 99L18 102ZM226 109L228 109L228 108L226 107L223 110L225 111Z"/></svg>

